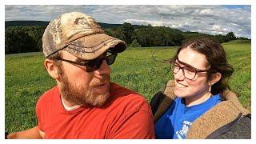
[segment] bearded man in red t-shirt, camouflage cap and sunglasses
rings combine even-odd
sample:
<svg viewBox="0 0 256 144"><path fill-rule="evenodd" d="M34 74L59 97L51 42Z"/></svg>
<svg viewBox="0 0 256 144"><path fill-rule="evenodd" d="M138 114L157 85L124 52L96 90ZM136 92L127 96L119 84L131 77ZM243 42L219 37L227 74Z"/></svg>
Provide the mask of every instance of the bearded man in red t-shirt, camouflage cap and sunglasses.
<svg viewBox="0 0 256 144"><path fill-rule="evenodd" d="M126 42L104 34L93 18L72 12L46 27L44 66L57 82L39 98L38 126L7 138L154 138L146 99L110 82Z"/></svg>

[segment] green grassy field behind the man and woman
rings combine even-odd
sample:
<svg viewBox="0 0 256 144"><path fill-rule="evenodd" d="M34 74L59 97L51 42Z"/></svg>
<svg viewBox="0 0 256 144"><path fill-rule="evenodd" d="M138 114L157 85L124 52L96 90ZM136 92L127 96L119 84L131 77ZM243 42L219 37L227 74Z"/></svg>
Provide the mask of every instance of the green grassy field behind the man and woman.
<svg viewBox="0 0 256 144"><path fill-rule="evenodd" d="M239 94L242 105L250 110L250 43L231 42L223 46L234 66L230 87ZM170 73L166 74L169 63L162 61L171 58L175 50L174 47L128 49L118 54L116 62L110 66L111 80L138 91L150 102L172 78ZM42 52L8 54L5 60L6 130L26 130L37 125L35 104L38 98L56 83L44 70Z"/></svg>

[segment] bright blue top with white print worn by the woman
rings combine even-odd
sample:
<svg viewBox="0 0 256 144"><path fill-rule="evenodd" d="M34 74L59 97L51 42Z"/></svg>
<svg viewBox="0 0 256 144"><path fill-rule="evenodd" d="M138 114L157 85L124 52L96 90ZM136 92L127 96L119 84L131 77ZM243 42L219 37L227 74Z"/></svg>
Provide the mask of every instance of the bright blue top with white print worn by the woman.
<svg viewBox="0 0 256 144"><path fill-rule="evenodd" d="M195 119L221 102L220 94L210 97L206 102L195 106L186 106L183 98L176 98L166 113L154 125L154 134L158 139L184 139Z"/></svg>

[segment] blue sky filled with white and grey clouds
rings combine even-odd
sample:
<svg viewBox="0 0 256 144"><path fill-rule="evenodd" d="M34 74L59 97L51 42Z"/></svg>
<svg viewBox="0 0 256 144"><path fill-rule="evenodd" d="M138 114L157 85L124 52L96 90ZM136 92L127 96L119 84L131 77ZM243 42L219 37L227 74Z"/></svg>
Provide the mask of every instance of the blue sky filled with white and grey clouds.
<svg viewBox="0 0 256 144"><path fill-rule="evenodd" d="M168 26L182 31L227 34L251 38L250 5L6 5L5 20L51 21L58 15L78 11L97 22Z"/></svg>

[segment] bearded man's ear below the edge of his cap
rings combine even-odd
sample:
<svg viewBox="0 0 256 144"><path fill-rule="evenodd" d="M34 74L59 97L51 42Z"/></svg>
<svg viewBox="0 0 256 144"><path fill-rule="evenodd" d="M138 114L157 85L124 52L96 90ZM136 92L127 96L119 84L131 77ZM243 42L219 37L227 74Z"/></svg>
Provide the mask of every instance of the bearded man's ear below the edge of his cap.
<svg viewBox="0 0 256 144"><path fill-rule="evenodd" d="M58 75L58 68L54 65L54 61L47 59L44 62L44 65L46 67L46 70L48 71L48 74L50 74L50 76L54 79L58 79L59 75Z"/></svg>

